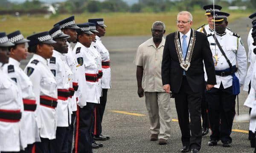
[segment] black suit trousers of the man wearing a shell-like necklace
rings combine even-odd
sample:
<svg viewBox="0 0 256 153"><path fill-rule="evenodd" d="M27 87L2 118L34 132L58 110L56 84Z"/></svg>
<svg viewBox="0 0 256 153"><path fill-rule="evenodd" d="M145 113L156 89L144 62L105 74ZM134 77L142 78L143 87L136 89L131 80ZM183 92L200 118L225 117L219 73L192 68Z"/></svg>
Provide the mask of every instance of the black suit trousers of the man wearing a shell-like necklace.
<svg viewBox="0 0 256 153"><path fill-rule="evenodd" d="M202 141L201 101L202 93L190 88L186 76L183 76L179 93L174 94L183 146L200 150ZM190 114L190 123L189 123ZM191 136L190 136L191 131Z"/></svg>

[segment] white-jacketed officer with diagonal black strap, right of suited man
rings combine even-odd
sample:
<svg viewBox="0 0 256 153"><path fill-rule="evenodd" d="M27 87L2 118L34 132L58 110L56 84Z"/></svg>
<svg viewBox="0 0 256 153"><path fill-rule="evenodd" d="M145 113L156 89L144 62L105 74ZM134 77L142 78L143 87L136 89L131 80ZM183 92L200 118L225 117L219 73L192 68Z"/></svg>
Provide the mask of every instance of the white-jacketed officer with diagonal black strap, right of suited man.
<svg viewBox="0 0 256 153"><path fill-rule="evenodd" d="M246 76L247 58L244 45L239 34L227 30L228 16L228 13L215 12L215 20L212 21L215 21L217 35L215 36L214 33L207 35L215 63L217 81L214 88L206 91L206 100L209 105L208 115L212 129L209 146L217 145L218 140L221 140L223 147L232 146L230 134L236 114L235 99L240 92L239 86L244 84ZM236 68L236 63L238 68Z"/></svg>

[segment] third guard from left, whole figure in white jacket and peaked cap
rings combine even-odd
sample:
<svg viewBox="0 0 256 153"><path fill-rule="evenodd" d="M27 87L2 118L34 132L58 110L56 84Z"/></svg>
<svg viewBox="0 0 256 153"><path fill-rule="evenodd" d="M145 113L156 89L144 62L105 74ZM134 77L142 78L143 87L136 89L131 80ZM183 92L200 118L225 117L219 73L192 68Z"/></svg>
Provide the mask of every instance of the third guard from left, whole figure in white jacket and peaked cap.
<svg viewBox="0 0 256 153"><path fill-rule="evenodd" d="M52 141L56 138L57 82L47 65L47 59L52 58L52 40L48 31L27 37L30 42L28 51L34 53L25 73L31 79L37 108L35 110L41 142L35 143L35 152L53 153Z"/></svg>

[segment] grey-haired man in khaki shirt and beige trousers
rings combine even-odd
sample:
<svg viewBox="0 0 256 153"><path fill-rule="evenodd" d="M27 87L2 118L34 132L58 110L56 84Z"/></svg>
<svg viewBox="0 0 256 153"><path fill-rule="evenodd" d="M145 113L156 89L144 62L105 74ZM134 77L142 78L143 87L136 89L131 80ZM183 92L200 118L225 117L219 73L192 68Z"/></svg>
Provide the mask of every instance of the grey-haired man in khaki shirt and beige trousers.
<svg viewBox="0 0 256 153"><path fill-rule="evenodd" d="M150 121L151 141L167 144L171 132L170 94L163 90L161 65L165 39L165 25L156 21L152 26L152 38L143 42L134 59L137 65L138 95L143 97Z"/></svg>

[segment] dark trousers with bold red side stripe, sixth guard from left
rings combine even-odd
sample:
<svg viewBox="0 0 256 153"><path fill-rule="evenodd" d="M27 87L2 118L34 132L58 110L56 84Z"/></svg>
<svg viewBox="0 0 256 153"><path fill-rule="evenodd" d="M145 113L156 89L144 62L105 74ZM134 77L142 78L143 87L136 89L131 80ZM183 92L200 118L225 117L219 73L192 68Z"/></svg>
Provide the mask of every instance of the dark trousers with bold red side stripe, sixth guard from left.
<svg viewBox="0 0 256 153"><path fill-rule="evenodd" d="M92 126L95 104L87 102L83 108L77 107L74 126L73 153L92 153Z"/></svg>

